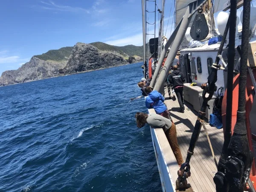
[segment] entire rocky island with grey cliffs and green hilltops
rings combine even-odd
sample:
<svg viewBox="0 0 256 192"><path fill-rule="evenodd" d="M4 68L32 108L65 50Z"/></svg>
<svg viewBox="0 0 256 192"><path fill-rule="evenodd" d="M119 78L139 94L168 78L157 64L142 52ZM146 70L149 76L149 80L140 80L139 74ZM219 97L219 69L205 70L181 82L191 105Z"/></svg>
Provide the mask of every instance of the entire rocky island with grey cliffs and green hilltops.
<svg viewBox="0 0 256 192"><path fill-rule="evenodd" d="M142 47L134 45L117 47L101 42L77 43L74 47L35 55L17 70L3 72L0 86L139 62L142 61L142 51Z"/></svg>

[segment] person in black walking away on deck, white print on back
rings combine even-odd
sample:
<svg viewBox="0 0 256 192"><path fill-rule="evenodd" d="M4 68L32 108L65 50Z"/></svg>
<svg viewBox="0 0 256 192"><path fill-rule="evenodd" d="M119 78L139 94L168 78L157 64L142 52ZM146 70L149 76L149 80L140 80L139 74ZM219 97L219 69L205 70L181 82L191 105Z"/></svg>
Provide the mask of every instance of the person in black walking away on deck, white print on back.
<svg viewBox="0 0 256 192"><path fill-rule="evenodd" d="M180 112L184 113L184 99L183 99L183 83L185 82L185 76L178 70L177 65L173 66L172 73L168 76L170 84L173 85L174 91L177 95L177 99L180 105Z"/></svg>

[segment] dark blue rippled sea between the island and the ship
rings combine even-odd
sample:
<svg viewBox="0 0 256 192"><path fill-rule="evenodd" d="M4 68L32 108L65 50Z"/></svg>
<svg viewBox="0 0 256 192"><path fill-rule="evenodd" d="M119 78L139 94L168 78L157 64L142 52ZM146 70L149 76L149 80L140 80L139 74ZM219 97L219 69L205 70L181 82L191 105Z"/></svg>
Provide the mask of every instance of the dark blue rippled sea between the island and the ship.
<svg viewBox="0 0 256 192"><path fill-rule="evenodd" d="M0 191L160 192L141 65L0 87Z"/></svg>

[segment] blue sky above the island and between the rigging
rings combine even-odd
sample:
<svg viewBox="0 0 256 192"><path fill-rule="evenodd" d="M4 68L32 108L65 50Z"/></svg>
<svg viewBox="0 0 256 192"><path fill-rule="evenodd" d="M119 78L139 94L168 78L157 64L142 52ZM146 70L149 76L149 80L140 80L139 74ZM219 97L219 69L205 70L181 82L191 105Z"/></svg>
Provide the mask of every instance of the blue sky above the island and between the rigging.
<svg viewBox="0 0 256 192"><path fill-rule="evenodd" d="M148 3L152 11L154 4ZM166 3L166 22L171 4ZM148 15L153 23L154 14ZM8 0L1 2L0 23L0 74L33 55L77 42L142 45L141 0Z"/></svg>

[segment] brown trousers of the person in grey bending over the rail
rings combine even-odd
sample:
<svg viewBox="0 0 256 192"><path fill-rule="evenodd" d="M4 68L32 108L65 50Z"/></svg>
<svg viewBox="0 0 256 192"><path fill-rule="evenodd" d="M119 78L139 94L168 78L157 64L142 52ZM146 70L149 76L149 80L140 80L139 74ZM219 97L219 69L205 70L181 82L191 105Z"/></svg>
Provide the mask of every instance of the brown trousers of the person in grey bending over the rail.
<svg viewBox="0 0 256 192"><path fill-rule="evenodd" d="M177 160L177 163L181 165L184 161L181 155L180 147L177 140L177 132L176 132L176 125L172 123L172 127L169 128L166 132L167 140L169 141L169 144L171 145L172 151L175 155L175 158Z"/></svg>

